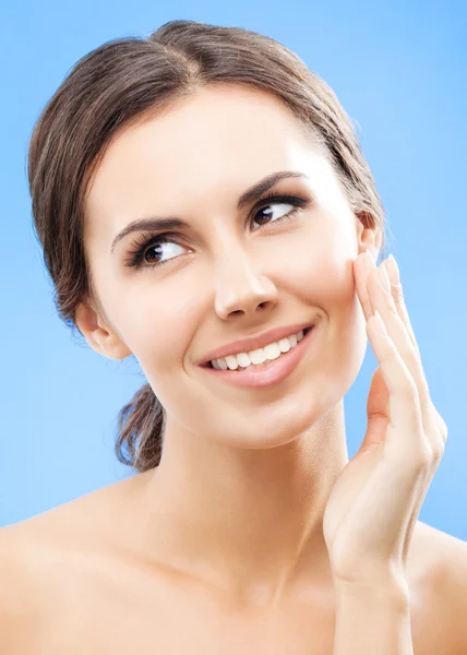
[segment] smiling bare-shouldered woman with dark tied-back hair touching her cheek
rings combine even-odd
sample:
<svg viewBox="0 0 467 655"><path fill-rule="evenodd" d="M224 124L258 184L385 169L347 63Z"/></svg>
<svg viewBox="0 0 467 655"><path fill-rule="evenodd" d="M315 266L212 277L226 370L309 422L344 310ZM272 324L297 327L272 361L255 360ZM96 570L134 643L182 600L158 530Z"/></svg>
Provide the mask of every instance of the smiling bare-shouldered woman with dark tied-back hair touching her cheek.
<svg viewBox="0 0 467 655"><path fill-rule="evenodd" d="M447 430L333 91L173 21L77 62L28 171L60 315L147 384L119 422L136 475L2 531L2 652L460 652L466 547L417 521Z"/></svg>

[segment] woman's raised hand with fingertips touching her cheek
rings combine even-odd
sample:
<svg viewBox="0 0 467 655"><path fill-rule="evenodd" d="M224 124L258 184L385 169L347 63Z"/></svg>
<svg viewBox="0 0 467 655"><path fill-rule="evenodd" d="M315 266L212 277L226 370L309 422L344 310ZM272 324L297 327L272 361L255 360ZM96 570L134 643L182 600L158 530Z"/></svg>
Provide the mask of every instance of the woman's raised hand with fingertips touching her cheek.
<svg viewBox="0 0 467 655"><path fill-rule="evenodd" d="M430 398L395 260L376 267L368 251L354 262L354 273L380 366L368 396L363 442L327 500L324 538L337 583L391 579L408 591L410 540L447 427Z"/></svg>

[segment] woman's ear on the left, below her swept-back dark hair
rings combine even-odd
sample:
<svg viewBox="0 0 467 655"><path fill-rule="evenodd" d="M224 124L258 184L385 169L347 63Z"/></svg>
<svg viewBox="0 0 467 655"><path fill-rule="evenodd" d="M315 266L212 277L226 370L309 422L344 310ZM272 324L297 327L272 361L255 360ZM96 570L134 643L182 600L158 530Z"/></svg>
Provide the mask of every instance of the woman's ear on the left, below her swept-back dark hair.
<svg viewBox="0 0 467 655"><path fill-rule="evenodd" d="M103 312L91 303L81 302L76 309L75 322L89 346L109 359L120 360L132 355L132 352L110 325Z"/></svg>

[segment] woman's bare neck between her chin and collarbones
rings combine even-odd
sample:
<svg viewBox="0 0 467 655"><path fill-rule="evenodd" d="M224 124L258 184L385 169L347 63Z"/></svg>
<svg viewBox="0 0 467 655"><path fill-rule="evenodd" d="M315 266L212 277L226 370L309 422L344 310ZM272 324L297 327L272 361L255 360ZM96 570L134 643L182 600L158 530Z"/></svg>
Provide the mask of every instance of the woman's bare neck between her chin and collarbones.
<svg viewBox="0 0 467 655"><path fill-rule="evenodd" d="M167 429L159 466L141 476L140 543L236 598L271 604L326 585L323 513L347 462L344 401L267 450L232 450Z"/></svg>

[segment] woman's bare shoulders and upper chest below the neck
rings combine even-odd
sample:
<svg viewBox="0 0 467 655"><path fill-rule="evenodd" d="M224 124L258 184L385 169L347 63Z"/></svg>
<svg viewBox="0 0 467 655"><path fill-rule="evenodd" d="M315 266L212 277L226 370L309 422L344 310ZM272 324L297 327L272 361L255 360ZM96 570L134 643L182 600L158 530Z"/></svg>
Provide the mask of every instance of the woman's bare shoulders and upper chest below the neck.
<svg viewBox="0 0 467 655"><path fill-rule="evenodd" d="M275 605L246 605L130 546L128 512L146 483L142 474L0 531L2 653L332 655L331 577ZM415 655L454 653L440 583L466 550L418 522L408 567Z"/></svg>

